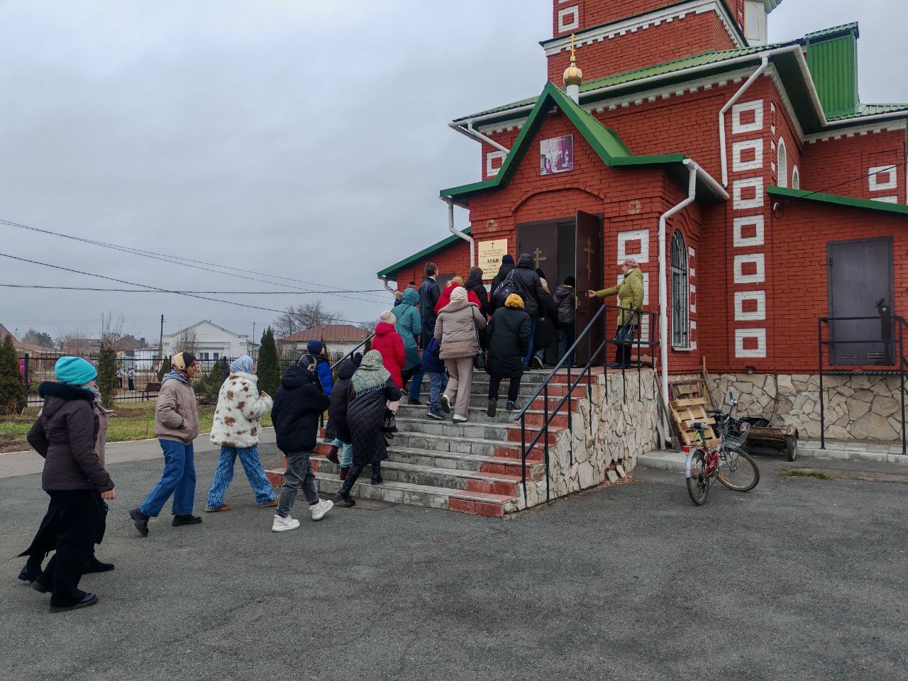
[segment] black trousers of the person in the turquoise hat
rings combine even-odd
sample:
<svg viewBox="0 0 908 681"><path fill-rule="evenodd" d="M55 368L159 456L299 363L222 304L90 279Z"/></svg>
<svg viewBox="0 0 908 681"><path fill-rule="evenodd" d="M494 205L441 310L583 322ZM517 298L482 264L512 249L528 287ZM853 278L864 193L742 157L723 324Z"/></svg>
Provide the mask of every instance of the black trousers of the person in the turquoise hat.
<svg viewBox="0 0 908 681"><path fill-rule="evenodd" d="M79 580L85 561L91 557L98 537L98 499L96 489L47 492L50 508L57 518L56 553L47 562L38 581L53 590L51 603L81 597Z"/></svg>

